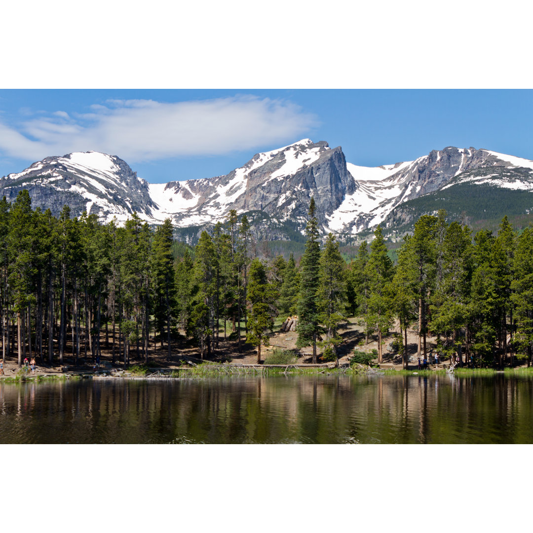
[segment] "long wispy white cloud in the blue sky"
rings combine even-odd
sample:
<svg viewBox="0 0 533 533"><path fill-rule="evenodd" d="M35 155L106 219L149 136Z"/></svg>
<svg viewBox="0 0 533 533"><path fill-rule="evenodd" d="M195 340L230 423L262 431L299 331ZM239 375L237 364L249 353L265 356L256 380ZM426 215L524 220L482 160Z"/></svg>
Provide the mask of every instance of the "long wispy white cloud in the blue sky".
<svg viewBox="0 0 533 533"><path fill-rule="evenodd" d="M187 102L108 100L88 114L64 111L0 122L0 154L42 159L95 150L127 161L228 154L293 141L316 124L299 106L251 95Z"/></svg>

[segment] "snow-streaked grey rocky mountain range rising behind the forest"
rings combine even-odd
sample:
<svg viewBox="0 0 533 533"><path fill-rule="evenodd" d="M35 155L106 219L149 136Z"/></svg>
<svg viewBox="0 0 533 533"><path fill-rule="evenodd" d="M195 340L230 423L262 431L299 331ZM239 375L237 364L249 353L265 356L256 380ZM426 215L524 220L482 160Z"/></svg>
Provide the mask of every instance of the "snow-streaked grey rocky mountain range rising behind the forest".
<svg viewBox="0 0 533 533"><path fill-rule="evenodd" d="M266 240L301 235L314 196L322 232L354 236L377 224L409 230L418 216L439 208L453 217L477 213L477 220L498 217L504 206L511 212L503 214L529 215L533 161L450 146L413 161L363 167L347 163L341 147L303 139L256 154L226 175L161 184L138 177L117 156L74 152L0 179L0 194L9 201L22 189L34 207L50 208L54 215L64 204L72 216L85 211L104 222L114 217L122 222L136 212L152 224L170 217L191 235L236 209L249 213Z"/></svg>

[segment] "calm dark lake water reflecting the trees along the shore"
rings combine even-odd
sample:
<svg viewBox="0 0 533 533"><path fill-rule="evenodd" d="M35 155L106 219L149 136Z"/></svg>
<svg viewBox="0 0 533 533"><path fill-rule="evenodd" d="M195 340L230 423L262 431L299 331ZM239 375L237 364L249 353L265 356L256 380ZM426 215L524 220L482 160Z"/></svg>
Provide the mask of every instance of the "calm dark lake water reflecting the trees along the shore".
<svg viewBox="0 0 533 533"><path fill-rule="evenodd" d="M533 379L0 384L0 443L533 443Z"/></svg>

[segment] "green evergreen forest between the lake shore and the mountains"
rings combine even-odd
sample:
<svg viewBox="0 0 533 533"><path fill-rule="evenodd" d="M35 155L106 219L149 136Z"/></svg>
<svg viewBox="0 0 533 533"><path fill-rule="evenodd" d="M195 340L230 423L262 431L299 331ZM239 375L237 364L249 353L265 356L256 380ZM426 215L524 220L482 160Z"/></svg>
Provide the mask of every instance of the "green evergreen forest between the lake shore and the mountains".
<svg viewBox="0 0 533 533"><path fill-rule="evenodd" d="M135 213L123 225L96 215L59 217L31 207L26 190L0 201L2 358L44 365L94 361L102 344L112 363L148 364L151 346L165 358L187 337L199 359L214 358L230 339L268 346L274 321L297 316L297 346L312 361L335 360L338 330L357 317L368 341L395 342L407 365L407 332L427 356L437 336L441 358L459 365L503 367L531 362L533 229L497 232L423 215L393 264L382 228L350 262L331 233L322 239L311 198L305 249L298 264L255 243L246 215L231 211L196 247L175 239L171 220L150 227Z"/></svg>

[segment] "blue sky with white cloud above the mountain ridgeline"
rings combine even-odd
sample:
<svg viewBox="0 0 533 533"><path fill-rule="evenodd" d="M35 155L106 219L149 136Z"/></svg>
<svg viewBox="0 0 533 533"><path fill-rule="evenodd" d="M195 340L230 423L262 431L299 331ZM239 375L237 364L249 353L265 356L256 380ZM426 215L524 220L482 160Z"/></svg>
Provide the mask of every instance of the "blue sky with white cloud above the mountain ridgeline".
<svg viewBox="0 0 533 533"><path fill-rule="evenodd" d="M377 166L446 146L533 159L531 90L0 90L0 176L98 150L153 183L230 172L303 138Z"/></svg>

